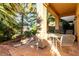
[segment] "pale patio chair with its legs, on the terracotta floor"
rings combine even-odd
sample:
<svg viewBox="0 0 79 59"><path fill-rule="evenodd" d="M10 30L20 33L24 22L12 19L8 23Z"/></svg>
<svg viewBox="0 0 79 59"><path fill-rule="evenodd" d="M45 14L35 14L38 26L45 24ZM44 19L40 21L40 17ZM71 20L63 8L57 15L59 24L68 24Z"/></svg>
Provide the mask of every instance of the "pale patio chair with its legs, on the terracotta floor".
<svg viewBox="0 0 79 59"><path fill-rule="evenodd" d="M75 36L71 34L62 35L60 39L57 39L57 45L59 43L59 48L61 51L64 46L73 46L75 41Z"/></svg>

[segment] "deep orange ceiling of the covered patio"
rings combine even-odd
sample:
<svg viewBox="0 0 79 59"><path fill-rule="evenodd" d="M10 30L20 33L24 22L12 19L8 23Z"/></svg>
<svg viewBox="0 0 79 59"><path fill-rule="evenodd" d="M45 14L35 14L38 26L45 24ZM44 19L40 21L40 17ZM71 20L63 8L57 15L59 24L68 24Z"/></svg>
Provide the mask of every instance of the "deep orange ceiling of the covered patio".
<svg viewBox="0 0 79 59"><path fill-rule="evenodd" d="M53 15L63 17L75 15L77 3L45 3L44 5Z"/></svg>

